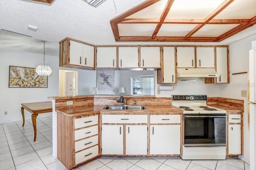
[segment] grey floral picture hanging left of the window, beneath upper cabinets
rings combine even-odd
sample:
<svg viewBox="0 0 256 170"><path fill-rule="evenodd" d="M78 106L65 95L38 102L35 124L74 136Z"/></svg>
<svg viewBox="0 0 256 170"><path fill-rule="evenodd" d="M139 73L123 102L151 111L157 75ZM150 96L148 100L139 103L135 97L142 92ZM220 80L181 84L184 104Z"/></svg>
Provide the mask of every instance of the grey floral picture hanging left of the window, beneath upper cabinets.
<svg viewBox="0 0 256 170"><path fill-rule="evenodd" d="M99 91L114 90L114 70L97 71L97 87Z"/></svg>

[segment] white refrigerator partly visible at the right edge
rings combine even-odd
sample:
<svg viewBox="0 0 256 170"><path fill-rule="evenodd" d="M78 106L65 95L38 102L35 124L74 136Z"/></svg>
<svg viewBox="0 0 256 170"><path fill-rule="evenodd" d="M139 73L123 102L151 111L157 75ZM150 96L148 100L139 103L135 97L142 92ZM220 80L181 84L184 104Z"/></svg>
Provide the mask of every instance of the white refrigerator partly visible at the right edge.
<svg viewBox="0 0 256 170"><path fill-rule="evenodd" d="M250 130L250 170L256 170L256 50L249 51L248 126Z"/></svg>

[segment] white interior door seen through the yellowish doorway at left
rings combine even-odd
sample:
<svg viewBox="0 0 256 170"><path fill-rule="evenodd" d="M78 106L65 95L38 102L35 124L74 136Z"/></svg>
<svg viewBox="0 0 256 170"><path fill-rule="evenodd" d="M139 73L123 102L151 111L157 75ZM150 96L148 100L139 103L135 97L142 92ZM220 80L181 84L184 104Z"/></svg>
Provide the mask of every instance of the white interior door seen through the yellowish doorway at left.
<svg viewBox="0 0 256 170"><path fill-rule="evenodd" d="M65 96L74 96L75 72L65 72Z"/></svg>

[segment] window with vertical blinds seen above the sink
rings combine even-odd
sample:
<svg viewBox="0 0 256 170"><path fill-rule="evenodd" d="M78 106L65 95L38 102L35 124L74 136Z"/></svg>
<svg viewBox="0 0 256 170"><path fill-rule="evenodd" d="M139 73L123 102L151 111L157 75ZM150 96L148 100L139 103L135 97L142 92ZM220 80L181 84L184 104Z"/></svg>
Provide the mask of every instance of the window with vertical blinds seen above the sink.
<svg viewBox="0 0 256 170"><path fill-rule="evenodd" d="M133 95L154 95L154 76L132 76Z"/></svg>

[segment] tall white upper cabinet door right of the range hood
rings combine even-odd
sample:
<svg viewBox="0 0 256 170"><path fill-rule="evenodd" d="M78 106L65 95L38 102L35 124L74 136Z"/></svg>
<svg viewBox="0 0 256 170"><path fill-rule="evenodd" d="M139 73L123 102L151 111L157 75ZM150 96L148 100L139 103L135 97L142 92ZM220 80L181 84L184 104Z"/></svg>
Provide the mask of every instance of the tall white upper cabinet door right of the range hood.
<svg viewBox="0 0 256 170"><path fill-rule="evenodd" d="M229 83L227 47L216 47L216 71L220 74L217 83Z"/></svg>

